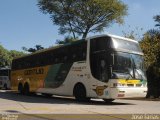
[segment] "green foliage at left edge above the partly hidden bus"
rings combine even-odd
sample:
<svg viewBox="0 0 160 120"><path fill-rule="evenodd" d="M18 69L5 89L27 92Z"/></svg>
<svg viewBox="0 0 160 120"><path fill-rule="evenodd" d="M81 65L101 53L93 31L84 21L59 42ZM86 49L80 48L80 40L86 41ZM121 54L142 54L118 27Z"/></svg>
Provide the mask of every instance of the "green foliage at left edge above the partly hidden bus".
<svg viewBox="0 0 160 120"><path fill-rule="evenodd" d="M24 55L23 52L16 50L8 51L2 45L0 45L0 67L11 66L13 58Z"/></svg>

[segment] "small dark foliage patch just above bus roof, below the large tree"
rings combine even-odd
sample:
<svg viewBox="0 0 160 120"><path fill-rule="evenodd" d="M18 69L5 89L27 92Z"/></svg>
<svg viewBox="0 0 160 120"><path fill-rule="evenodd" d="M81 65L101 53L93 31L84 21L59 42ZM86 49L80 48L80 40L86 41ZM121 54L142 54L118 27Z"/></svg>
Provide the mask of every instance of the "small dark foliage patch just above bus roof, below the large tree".
<svg viewBox="0 0 160 120"><path fill-rule="evenodd" d="M67 43L72 43L74 41L78 40L78 38L73 38L73 37L65 37L64 40L56 40L56 44L67 44Z"/></svg>

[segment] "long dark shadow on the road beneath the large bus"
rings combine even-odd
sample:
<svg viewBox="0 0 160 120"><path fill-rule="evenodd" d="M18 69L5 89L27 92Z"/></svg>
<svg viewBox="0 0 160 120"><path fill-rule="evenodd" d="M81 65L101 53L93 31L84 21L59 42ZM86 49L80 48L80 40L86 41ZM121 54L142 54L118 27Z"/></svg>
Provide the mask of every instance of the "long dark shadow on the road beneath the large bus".
<svg viewBox="0 0 160 120"><path fill-rule="evenodd" d="M81 104L81 105L134 105L131 103L122 102L111 102L106 103L99 100L90 100L88 102L77 102L73 97L45 97L42 95L31 94L29 96L20 95L13 91L0 91L0 99L13 100L17 102L27 102L27 103L49 103L49 104Z"/></svg>

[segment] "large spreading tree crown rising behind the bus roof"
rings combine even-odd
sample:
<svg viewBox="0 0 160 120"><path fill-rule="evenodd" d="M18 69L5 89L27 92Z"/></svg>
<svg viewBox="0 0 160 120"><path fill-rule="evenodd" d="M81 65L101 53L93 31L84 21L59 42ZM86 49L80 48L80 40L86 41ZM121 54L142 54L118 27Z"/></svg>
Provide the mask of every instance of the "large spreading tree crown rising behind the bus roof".
<svg viewBox="0 0 160 120"><path fill-rule="evenodd" d="M50 14L60 34L72 33L74 38L122 24L127 14L127 5L120 0L38 0L38 6Z"/></svg>

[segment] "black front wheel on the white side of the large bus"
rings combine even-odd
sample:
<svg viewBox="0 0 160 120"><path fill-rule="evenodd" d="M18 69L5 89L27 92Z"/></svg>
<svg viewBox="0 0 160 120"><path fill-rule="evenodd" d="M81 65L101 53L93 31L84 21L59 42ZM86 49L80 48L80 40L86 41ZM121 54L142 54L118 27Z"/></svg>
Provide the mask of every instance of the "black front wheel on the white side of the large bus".
<svg viewBox="0 0 160 120"><path fill-rule="evenodd" d="M74 87L73 94L74 94L77 101L83 102L83 101L90 100L90 98L86 97L86 89L85 89L84 85L82 85L82 84L77 84Z"/></svg>

